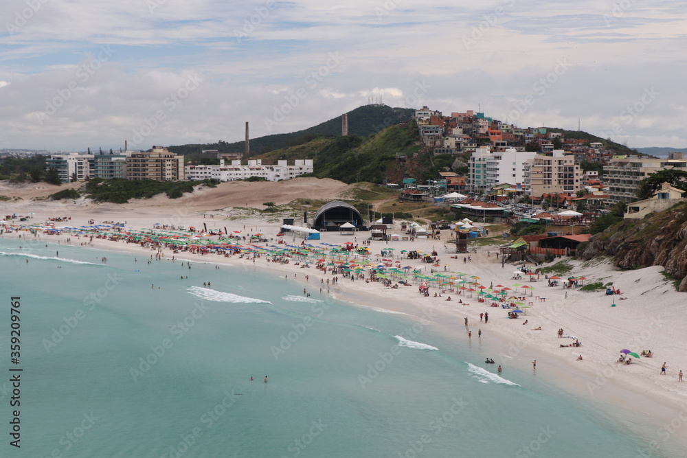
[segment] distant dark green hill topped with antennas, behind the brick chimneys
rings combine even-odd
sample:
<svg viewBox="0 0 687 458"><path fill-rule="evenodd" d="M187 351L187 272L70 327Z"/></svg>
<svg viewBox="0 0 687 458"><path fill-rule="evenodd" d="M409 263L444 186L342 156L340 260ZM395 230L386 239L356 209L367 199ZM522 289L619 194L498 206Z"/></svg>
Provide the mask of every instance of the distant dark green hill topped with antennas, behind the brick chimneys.
<svg viewBox="0 0 687 458"><path fill-rule="evenodd" d="M413 108L392 108L386 105L364 105L348 112L348 135L368 137L387 126L408 121L415 114ZM265 135L251 138L251 156L264 154L272 150L287 148L303 144L318 135L341 135L341 116L329 119L311 128L298 130L286 134ZM243 152L244 142L227 143L219 141L214 144L189 144L169 146L168 149L177 154L197 154L202 150L218 150L220 152Z"/></svg>

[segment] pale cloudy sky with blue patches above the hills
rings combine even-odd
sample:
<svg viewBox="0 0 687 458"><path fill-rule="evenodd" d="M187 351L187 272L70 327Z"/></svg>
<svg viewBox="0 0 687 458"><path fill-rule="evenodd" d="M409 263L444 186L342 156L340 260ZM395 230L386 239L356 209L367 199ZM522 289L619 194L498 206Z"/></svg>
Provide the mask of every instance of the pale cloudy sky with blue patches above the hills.
<svg viewBox="0 0 687 458"><path fill-rule="evenodd" d="M683 148L681 3L3 0L0 148L237 141L373 95Z"/></svg>

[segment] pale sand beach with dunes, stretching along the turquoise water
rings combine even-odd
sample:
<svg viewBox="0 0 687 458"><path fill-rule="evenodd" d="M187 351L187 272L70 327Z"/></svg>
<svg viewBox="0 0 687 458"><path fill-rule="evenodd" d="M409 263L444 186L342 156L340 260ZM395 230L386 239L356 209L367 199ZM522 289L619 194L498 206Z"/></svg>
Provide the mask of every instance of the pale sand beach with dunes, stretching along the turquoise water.
<svg viewBox="0 0 687 458"><path fill-rule="evenodd" d="M45 185L43 185L45 186ZM5 196L23 196L23 200L5 201L0 204L1 214L17 214L31 218L30 223L42 223L49 218L68 216L69 222L56 222L56 226L87 225L89 220L96 224L104 221L126 222L126 227L150 229L156 223L161 225L183 225L184 227L203 227L241 231L242 234L264 233L268 238L275 238L280 227L281 217L249 214L249 211L236 207L253 207L262 209L262 203L289 203L294 198L335 199L348 190L348 185L334 180L295 179L280 183L224 183L218 188L205 189L170 200L157 196L148 200L133 201L124 205L95 204L80 199L79 201L35 201L31 197L41 196L45 190L22 190L3 184L0 194ZM49 190L48 192L54 192ZM14 194L13 194L14 193ZM12 221L4 221L5 225ZM18 220L14 224L20 224ZM399 233L400 229L394 232ZM443 231L442 236L448 236ZM2 238L21 235L28 240L34 239L27 231L3 233ZM78 246L87 242L86 237L78 238L68 233L60 236L39 234L41 242L66 243L71 237L71 244ZM322 233L321 240L311 243L360 244L369 237L368 232L355 236L341 236L339 233ZM286 242L300 244L302 239L293 236L284 238ZM27 242L28 242L27 240ZM38 236L36 237L38 240ZM495 238L495 244L499 238ZM518 319L508 319L508 311L500 305L490 307L490 300L481 303L476 292L458 294L458 290L430 288L430 296L418 293L418 285L388 288L378 282L364 280L350 281L340 279L337 288L330 286L330 294L347 301L392 312L402 312L421 320L432 332L449 336L454 341L473 342L481 339L494 353L497 365L504 371L510 367L530 369L532 360L537 360L537 375L550 377L561 389L570 390L598 402L618 404L622 407L646 413L647 418L655 419L659 427L652 426L651 431L640 431L649 442L660 446L666 439L687 444L687 382L678 381L678 372L687 371L687 338L684 336L683 323L687 322L687 296L677 293L673 284L660 273L660 266L642 268L636 271L618 271L609 260L598 259L590 262L570 260L572 271L569 275L583 275L585 284L591 282L613 282L622 294L607 296L604 292L584 293L578 288L564 289L562 286L549 287L544 275L539 281L528 278L513 279L517 266L505 264L495 257L495 246L481 247L470 253L472 260L464 262L467 255L455 255L455 248L444 243L445 240L414 240L412 242L370 242L373 260L381 260L382 249L393 248L394 260L401 266L423 268L431 275L429 269L439 272L465 273L464 278L471 276L485 287L502 285L508 288L508 297L526 296L526 312ZM272 242L271 242L272 243ZM89 244L90 246L91 244ZM129 251L133 255L148 257L157 252L144 249L136 244L111 242L94 239L94 249ZM402 250L418 250L430 253L438 252L440 266L425 264L420 260L403 258ZM488 252L490 253L488 255ZM163 249L164 257L172 256L171 249ZM331 273L324 273L314 266L302 268L302 265L278 264L267 262L266 257L257 260L240 258L236 255L199 255L181 252L179 259L193 262L213 262L260 268L273 271L275 275L288 275L289 279L304 283L304 288L312 295L326 295L326 280ZM388 259L388 257L387 257ZM557 259L559 261L560 259ZM532 268L535 268L532 266ZM308 275L306 280L305 276ZM567 276L567 275L566 275ZM340 275L339 275L340 277ZM533 276L536 277L536 276ZM324 280L323 292L319 288ZM520 285L520 286L517 286ZM532 286L525 288L522 285ZM453 285L458 288L460 284ZM448 286L449 288L451 286ZM496 289L496 288L495 288ZM502 289L502 288L499 288ZM445 292L444 292L445 291ZM440 293L442 297L433 297ZM447 297L451 296L451 301ZM471 297L472 296L472 297ZM620 299L620 298L627 299ZM463 304L459 303L459 300ZM616 306L612 306L613 302ZM480 313L488 312L488 323L480 322ZM464 325L467 318L469 325ZM527 321L526 324L525 321ZM534 330L541 327L541 330ZM557 331L563 329L563 338ZM482 337L477 336L482 330ZM471 338L468 332L472 332ZM421 339L420 339L421 340ZM581 347L561 347L576 340ZM631 365L616 363L620 350L628 349L640 353L651 350L653 358L633 358ZM577 360L582 355L583 360ZM489 356L489 355L488 355ZM666 362L667 374L662 375L661 367ZM618 418L622 423L622 418ZM626 425L629 427L637 425Z"/></svg>

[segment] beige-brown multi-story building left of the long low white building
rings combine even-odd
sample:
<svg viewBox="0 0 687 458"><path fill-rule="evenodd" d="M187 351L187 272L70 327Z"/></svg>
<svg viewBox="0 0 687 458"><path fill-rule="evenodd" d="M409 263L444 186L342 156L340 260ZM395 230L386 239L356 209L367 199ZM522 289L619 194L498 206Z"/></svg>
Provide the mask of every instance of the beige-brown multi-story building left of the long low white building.
<svg viewBox="0 0 687 458"><path fill-rule="evenodd" d="M183 180L183 155L153 146L152 152L134 152L126 158L126 178L130 180Z"/></svg>

